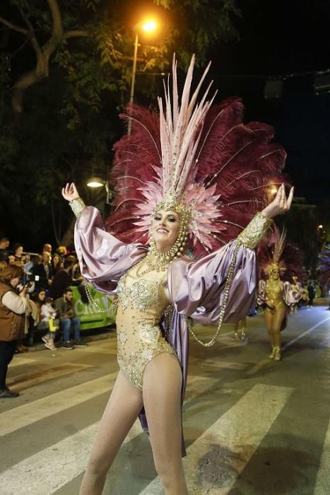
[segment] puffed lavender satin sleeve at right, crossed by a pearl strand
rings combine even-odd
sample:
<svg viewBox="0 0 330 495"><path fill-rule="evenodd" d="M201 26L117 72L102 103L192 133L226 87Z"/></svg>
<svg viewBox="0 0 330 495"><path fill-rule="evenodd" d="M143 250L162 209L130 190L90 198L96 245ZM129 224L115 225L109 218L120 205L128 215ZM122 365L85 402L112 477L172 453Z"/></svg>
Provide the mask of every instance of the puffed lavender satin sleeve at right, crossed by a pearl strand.
<svg viewBox="0 0 330 495"><path fill-rule="evenodd" d="M237 241L232 240L197 262L182 259L170 264L167 291L177 313L191 316L203 325L216 324L236 247ZM255 252L240 244L223 321L236 322L249 314L255 301L256 284Z"/></svg>

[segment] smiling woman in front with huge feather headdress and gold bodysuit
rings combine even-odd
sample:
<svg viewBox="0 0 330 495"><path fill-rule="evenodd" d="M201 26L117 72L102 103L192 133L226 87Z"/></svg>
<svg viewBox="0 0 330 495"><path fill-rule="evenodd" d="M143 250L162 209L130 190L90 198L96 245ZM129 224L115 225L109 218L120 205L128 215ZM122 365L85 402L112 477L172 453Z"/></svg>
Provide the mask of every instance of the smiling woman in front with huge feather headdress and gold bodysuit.
<svg viewBox="0 0 330 495"><path fill-rule="evenodd" d="M120 445L139 415L151 437L165 494L187 494L182 467L182 400L187 378L187 317L235 322L254 303L254 248L271 218L290 208L282 185L285 152L266 124L242 124L239 99L212 105L190 96L194 57L181 102L173 61L172 95L159 113L129 107L131 135L115 146L114 212L105 226L75 185L62 194L77 217L81 274L95 288L117 287L120 371L100 421L81 495L101 494ZM259 211L259 213L257 213ZM257 214L256 214L257 213ZM249 225L247 225L249 223ZM244 228L245 226L245 228ZM107 230L105 230L107 229ZM237 236L238 235L238 236ZM230 242L228 242L230 241ZM193 250L194 260L185 255Z"/></svg>

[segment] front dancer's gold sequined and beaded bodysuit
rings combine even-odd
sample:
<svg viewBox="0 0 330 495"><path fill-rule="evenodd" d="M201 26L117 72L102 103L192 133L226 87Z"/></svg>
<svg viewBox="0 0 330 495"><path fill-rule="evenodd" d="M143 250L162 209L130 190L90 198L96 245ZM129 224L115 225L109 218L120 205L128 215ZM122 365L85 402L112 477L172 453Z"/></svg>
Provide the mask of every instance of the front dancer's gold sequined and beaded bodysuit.
<svg viewBox="0 0 330 495"><path fill-rule="evenodd" d="M153 271L138 277L136 267L132 267L117 286L117 359L121 370L139 390L149 361L163 352L175 355L159 326L170 304L163 287L166 275L167 271Z"/></svg>

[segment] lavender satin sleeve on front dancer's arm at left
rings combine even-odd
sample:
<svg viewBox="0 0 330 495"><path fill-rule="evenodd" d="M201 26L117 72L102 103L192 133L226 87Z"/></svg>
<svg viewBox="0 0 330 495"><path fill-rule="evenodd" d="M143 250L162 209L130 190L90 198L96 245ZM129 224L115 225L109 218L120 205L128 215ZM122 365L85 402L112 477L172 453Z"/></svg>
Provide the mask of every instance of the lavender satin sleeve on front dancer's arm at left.
<svg viewBox="0 0 330 495"><path fill-rule="evenodd" d="M112 292L120 277L147 252L145 246L122 243L105 231L93 206L86 206L76 221L74 243L81 274L105 293Z"/></svg>

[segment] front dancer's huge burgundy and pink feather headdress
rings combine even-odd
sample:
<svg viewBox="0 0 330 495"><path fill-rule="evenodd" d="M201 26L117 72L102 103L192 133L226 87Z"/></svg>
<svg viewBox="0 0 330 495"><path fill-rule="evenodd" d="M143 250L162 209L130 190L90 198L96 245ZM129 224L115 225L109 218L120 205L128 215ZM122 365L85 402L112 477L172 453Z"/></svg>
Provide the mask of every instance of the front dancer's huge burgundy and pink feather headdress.
<svg viewBox="0 0 330 495"><path fill-rule="evenodd" d="M273 128L242 123L240 98L212 105L211 84L197 101L207 66L192 95L194 57L179 101L177 62L172 91L158 98L159 111L131 105L131 135L115 146L110 181L117 192L107 230L124 242L149 242L155 210L175 209L189 217L196 258L228 243L285 182L285 151L271 142Z"/></svg>

